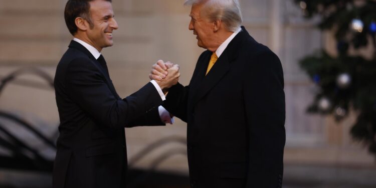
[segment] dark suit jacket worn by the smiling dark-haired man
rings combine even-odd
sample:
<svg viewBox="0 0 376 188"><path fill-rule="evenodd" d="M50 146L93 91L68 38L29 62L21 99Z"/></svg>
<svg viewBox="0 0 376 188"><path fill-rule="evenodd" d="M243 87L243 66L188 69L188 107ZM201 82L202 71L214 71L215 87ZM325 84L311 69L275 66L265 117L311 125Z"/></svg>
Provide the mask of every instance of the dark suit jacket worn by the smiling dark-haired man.
<svg viewBox="0 0 376 188"><path fill-rule="evenodd" d="M124 127L162 122L162 100L148 83L121 99L107 69L72 41L55 75L60 126L53 187L124 187Z"/></svg>

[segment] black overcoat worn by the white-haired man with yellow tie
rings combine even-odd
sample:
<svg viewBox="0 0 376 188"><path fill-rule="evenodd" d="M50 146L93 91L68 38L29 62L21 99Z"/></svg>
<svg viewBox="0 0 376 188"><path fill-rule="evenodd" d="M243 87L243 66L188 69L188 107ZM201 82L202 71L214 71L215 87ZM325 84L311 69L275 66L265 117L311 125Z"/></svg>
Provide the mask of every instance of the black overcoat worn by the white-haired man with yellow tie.
<svg viewBox="0 0 376 188"><path fill-rule="evenodd" d="M285 98L278 57L242 27L205 76L201 54L189 86L169 89L164 107L187 122L192 187L281 187Z"/></svg>

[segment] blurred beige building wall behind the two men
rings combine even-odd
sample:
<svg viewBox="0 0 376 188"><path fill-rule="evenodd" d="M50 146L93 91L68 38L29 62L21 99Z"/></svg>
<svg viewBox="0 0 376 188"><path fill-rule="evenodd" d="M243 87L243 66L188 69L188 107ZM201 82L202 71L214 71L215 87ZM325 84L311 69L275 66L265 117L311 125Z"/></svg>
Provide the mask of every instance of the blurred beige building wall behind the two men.
<svg viewBox="0 0 376 188"><path fill-rule="evenodd" d="M63 19L65 3L0 0L0 78L30 66L54 76L56 65L72 38ZM337 125L330 117L305 114L315 87L297 61L326 45L321 33L312 23L299 19L299 10L289 1L243 0L241 3L247 30L275 51L283 64L287 102L286 163L374 165L373 157L349 136L353 118ZM125 97L147 83L150 67L158 59L179 64L180 82L189 83L196 60L204 49L197 47L195 37L187 29L190 8L182 4L182 0L113 0L120 28L114 32L114 46L104 49L103 55L120 96ZM0 93L0 109L22 115L52 135L59 120L54 92L48 87L36 89L23 85L30 81L45 83L33 75L20 77ZM185 137L185 126L176 119L174 125L166 127L126 129L128 158L160 138ZM185 150L185 146L169 143L136 165L148 167L154 158L172 149ZM171 156L159 168L186 173L186 156Z"/></svg>

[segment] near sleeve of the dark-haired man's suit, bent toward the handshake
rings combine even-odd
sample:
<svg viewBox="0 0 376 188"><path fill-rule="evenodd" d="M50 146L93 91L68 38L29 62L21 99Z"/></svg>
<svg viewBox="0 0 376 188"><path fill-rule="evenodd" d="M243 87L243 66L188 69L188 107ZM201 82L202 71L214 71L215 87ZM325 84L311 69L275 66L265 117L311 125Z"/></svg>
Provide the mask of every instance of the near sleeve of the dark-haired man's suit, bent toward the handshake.
<svg viewBox="0 0 376 188"><path fill-rule="evenodd" d="M142 116L152 116L155 111L151 110L162 104L162 99L151 83L118 100L97 67L86 58L76 58L69 64L65 87L67 94L90 117L111 128L135 124Z"/></svg>

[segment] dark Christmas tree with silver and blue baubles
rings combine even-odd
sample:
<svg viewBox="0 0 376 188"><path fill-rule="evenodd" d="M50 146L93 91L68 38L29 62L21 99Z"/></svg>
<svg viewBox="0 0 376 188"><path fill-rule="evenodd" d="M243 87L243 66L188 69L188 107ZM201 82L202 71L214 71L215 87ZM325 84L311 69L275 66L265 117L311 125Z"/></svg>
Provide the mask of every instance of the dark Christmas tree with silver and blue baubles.
<svg viewBox="0 0 376 188"><path fill-rule="evenodd" d="M299 62L319 88L308 112L334 115L340 121L354 111L351 135L376 155L376 2L295 2L307 19L319 17L317 27L332 32L337 42L335 56L321 49Z"/></svg>

